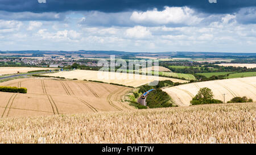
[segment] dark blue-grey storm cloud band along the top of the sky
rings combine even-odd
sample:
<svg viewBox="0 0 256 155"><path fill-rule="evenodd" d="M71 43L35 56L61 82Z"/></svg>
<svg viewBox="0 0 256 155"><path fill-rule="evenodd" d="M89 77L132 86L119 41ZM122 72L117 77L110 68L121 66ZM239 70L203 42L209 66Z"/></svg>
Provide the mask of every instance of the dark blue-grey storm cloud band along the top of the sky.
<svg viewBox="0 0 256 155"><path fill-rule="evenodd" d="M230 13L242 7L256 6L254 0L0 0L0 10L9 12L65 12L65 11L101 11L122 12L130 10L146 11L164 6L189 6L209 13Z"/></svg>

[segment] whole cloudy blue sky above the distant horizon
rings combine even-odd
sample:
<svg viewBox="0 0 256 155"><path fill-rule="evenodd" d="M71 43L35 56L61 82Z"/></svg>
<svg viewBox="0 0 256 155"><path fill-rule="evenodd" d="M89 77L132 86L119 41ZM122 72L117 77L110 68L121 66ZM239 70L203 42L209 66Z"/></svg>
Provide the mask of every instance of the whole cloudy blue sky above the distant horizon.
<svg viewBox="0 0 256 155"><path fill-rule="evenodd" d="M254 0L0 0L0 51L256 52Z"/></svg>

